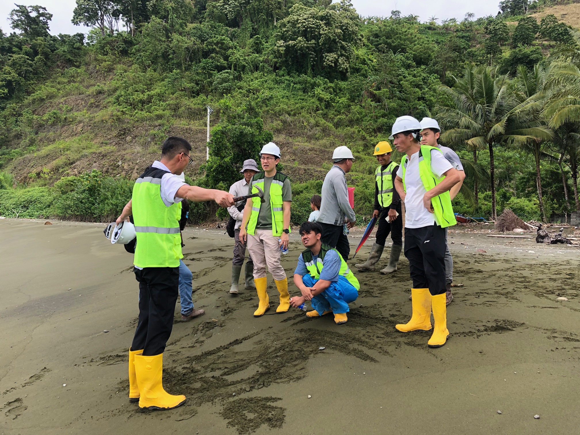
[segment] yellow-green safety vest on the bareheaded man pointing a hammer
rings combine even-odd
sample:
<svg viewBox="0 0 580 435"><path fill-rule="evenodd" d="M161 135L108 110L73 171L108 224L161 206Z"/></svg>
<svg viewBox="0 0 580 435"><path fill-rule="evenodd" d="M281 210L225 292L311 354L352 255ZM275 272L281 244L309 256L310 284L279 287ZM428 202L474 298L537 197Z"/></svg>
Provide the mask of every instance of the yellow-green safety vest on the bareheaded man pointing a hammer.
<svg viewBox="0 0 580 435"><path fill-rule="evenodd" d="M166 173L149 167L133 186L137 267L179 267L183 258L179 233L182 204L175 202L168 207L161 199L161 178Z"/></svg>

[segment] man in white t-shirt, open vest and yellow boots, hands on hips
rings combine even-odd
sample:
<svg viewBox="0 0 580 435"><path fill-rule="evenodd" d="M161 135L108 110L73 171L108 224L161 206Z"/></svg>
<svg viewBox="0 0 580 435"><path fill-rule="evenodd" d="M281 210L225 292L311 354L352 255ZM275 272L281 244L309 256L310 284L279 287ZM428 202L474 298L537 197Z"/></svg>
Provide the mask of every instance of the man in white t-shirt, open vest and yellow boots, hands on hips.
<svg viewBox="0 0 580 435"><path fill-rule="evenodd" d="M417 141L419 121L410 116L397 118L390 139L404 153L397 171L395 188L405 202L405 257L413 280L413 314L398 331L429 331L431 311L435 320L429 347L447 341L445 306L445 228L455 225L449 190L459 182L458 171L436 147Z"/></svg>

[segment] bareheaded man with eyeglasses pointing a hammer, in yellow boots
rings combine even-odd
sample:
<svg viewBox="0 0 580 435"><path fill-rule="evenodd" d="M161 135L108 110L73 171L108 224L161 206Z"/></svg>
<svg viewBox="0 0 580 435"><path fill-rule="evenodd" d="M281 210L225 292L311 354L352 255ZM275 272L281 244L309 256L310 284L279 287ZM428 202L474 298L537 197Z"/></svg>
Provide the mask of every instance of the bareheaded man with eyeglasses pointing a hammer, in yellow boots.
<svg viewBox="0 0 580 435"><path fill-rule="evenodd" d="M129 401L142 410L172 409L185 396L173 396L163 388L163 351L173 327L179 293L179 262L183 258L179 219L181 201L215 201L222 207L234 197L215 189L189 186L179 179L191 162L191 145L170 136L161 148L161 161L145 169L133 186L117 224L133 215L137 244L135 277L139 282L139 322L129 349Z"/></svg>

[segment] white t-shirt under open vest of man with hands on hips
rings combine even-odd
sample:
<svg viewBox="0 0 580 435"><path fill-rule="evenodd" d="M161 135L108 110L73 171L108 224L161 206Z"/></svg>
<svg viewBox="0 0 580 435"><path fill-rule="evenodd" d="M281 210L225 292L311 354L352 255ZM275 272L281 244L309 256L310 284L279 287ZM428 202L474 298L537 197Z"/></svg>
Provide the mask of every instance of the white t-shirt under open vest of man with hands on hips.
<svg viewBox="0 0 580 435"><path fill-rule="evenodd" d="M423 195L427 193L423 182L419 177L419 155L417 151L411 157L407 156L407 170L405 171L405 187L407 195L405 196L405 228L421 228L433 225L437 222L434 213L429 212L423 205ZM431 150L431 170L438 177L453 166L447 161L443 154L437 150ZM403 178L403 165L399 166L397 176Z"/></svg>

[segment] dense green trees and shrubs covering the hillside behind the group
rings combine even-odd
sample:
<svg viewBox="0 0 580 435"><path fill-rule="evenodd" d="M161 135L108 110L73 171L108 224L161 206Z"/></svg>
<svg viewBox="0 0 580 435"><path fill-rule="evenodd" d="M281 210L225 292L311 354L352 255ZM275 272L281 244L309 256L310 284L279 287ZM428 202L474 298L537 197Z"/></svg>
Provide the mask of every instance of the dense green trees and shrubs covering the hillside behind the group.
<svg viewBox="0 0 580 435"><path fill-rule="evenodd" d="M271 138L346 144L356 212L368 217L372 146L396 117L432 115L466 168L456 211L545 220L580 210L580 49L555 16L528 14L548 3L505 0L495 17L420 23L397 10L363 18L345 0L77 0L73 23L93 30L57 37L49 11L19 5L15 31L0 31L0 215L113 217L130 173L71 166L128 153L103 131L136 136L132 155L150 155L170 129L203 126L208 104L219 119L210 159L187 174L200 186L227 188ZM299 164L282 157L283 171ZM293 222L317 178L293 185Z"/></svg>

